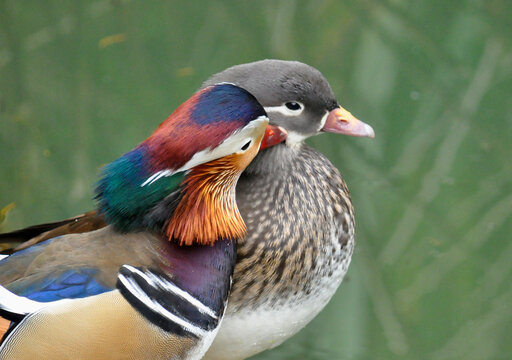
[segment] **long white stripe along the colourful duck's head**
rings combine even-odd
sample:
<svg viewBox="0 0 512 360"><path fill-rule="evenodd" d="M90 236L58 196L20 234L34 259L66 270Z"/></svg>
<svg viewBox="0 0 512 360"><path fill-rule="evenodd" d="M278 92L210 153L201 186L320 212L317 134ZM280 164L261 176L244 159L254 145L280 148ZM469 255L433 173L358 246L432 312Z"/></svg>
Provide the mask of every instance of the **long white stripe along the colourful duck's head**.
<svg viewBox="0 0 512 360"><path fill-rule="evenodd" d="M268 117L265 115L261 115L258 118L252 120L249 124L244 126L242 129L236 131L227 139L225 139L219 146L215 149L204 149L201 150L192 156L192 158L187 161L185 165L180 167L179 169L164 169L160 170L149 178L147 178L140 186L146 186L154 183L158 179L165 176L172 176L181 171L189 170L197 165L207 163L212 160L220 159L221 157L234 154L242 148L242 146L247 143L247 141L252 140L255 141L258 136L261 134L263 129L268 124Z"/></svg>

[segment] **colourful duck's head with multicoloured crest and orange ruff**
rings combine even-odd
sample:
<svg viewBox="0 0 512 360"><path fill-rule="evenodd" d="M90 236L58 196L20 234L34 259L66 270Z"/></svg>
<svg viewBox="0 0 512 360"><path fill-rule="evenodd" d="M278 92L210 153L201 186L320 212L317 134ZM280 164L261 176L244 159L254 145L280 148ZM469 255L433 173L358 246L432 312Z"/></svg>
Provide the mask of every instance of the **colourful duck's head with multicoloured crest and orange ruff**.
<svg viewBox="0 0 512 360"><path fill-rule="evenodd" d="M225 83L202 89L104 168L99 211L118 231L151 230L186 245L243 236L235 186L267 124L246 90Z"/></svg>

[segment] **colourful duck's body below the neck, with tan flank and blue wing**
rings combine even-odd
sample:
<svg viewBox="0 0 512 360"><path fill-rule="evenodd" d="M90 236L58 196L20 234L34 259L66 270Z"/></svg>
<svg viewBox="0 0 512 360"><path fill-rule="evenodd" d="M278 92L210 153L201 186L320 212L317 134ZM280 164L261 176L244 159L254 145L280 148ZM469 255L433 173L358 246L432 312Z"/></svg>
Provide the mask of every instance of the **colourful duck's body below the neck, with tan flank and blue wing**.
<svg viewBox="0 0 512 360"><path fill-rule="evenodd" d="M200 359L218 331L235 255L234 241L184 247L148 232L121 234L112 226L16 253L1 264L0 282L20 302L30 299L41 309L6 334L0 359ZM160 302L176 322L122 286L125 264L135 276L158 275L179 289ZM164 295L159 292L148 291L153 301ZM211 314L198 311L191 298Z"/></svg>

